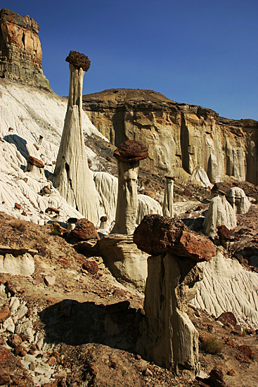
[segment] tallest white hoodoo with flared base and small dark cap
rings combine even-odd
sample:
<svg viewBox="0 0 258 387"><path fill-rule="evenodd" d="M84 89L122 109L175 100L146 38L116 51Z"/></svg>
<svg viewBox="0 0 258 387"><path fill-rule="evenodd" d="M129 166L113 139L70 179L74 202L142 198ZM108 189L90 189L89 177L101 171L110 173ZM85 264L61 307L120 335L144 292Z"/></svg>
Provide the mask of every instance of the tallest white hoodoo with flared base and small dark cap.
<svg viewBox="0 0 258 387"><path fill-rule="evenodd" d="M102 214L82 131L82 85L91 62L76 51L70 51L65 61L70 63L69 98L53 184L68 204L96 225Z"/></svg>

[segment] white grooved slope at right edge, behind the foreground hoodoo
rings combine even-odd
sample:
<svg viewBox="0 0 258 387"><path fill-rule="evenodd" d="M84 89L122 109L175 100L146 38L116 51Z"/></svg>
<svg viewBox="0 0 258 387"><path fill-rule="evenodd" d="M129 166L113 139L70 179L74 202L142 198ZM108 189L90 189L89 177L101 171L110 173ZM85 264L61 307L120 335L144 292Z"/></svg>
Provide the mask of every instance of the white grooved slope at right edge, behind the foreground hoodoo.
<svg viewBox="0 0 258 387"><path fill-rule="evenodd" d="M238 260L224 258L221 252L198 265L203 268L203 279L191 304L216 317L233 312L238 321L257 329L258 275L245 270Z"/></svg>

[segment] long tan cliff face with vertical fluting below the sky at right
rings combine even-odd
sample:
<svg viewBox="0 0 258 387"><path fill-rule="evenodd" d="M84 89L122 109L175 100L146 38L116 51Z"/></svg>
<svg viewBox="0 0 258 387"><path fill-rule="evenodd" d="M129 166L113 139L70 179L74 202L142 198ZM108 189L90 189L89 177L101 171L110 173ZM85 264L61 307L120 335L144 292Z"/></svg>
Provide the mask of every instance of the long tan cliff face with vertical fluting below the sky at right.
<svg viewBox="0 0 258 387"><path fill-rule="evenodd" d="M226 120L214 110L138 89L85 95L83 108L115 146L127 139L148 146L150 169L182 176L182 168L192 174L200 166L209 177L219 170L221 179L228 175L258 184L257 121Z"/></svg>

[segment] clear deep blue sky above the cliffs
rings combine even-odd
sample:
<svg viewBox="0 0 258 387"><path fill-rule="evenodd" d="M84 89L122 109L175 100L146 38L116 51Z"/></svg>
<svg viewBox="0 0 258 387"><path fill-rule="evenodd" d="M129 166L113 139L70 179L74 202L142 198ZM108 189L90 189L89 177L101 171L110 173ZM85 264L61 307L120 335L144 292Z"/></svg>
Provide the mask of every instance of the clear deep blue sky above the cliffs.
<svg viewBox="0 0 258 387"><path fill-rule="evenodd" d="M8 0L39 23L44 74L68 94L70 50L89 56L84 94L126 87L258 120L257 0Z"/></svg>

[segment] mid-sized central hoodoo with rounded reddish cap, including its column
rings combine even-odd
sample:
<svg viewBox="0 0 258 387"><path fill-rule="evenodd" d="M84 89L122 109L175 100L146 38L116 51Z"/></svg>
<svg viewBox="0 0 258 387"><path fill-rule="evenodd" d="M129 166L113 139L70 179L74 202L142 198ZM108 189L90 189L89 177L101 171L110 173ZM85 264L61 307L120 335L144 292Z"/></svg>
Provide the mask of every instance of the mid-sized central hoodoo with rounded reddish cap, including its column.
<svg viewBox="0 0 258 387"><path fill-rule="evenodd" d="M148 157L146 146L127 140L114 152L117 159L118 193L115 227L112 234L133 234L137 217L137 179L139 161Z"/></svg>

